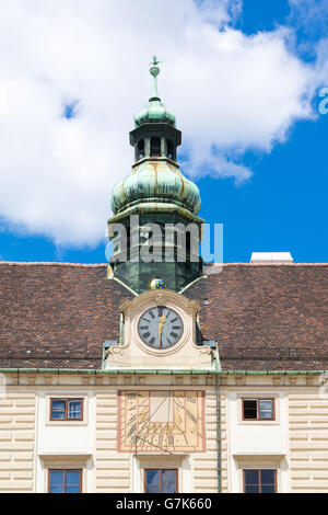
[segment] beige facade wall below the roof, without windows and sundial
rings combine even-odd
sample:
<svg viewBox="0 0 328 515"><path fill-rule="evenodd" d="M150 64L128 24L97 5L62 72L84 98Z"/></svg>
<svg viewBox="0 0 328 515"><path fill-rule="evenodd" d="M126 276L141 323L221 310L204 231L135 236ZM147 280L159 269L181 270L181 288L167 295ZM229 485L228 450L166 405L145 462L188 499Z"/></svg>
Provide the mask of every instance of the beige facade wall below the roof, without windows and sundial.
<svg viewBox="0 0 328 515"><path fill-rule="evenodd" d="M17 384L19 382L19 384ZM222 384L225 382L225 384ZM328 491L328 401L320 377L230 376L220 386L222 491L241 492L241 470L272 465L280 492ZM207 447L186 456L136 456L117 451L117 392L122 389L206 391ZM81 392L87 424L49 425L48 397ZM277 424L241 423L239 399L245 393L274 393ZM73 454L73 456L70 456ZM57 457L56 457L57 456ZM179 468L184 492L215 493L216 392L207 376L8 375L0 398L0 492L44 492L47 468L54 464L84 470L86 492L142 491L142 469L152 464Z"/></svg>

